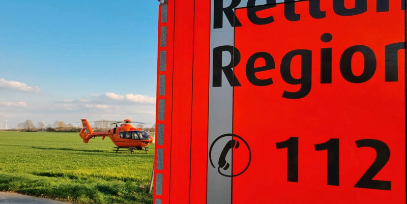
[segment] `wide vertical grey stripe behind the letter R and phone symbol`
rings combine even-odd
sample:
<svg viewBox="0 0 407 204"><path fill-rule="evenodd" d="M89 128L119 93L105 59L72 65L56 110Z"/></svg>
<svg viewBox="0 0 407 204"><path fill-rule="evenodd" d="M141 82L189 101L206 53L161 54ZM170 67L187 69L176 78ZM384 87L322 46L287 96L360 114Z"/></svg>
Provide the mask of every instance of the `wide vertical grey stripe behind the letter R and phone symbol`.
<svg viewBox="0 0 407 204"><path fill-rule="evenodd" d="M287 0L285 0L288 2ZM297 1L297 0L296 0ZM209 72L210 76L213 76L213 64L214 60L220 61L222 65L229 63L231 61L231 55L224 53L222 55L214 56L214 48L219 46L234 46L234 32L235 29L229 23L226 15L223 15L223 23L221 28L214 28L214 10L215 2L223 3L223 8L227 7L230 4L239 4L235 5L235 8L244 8L247 6L248 0L224 0L217 1L211 0L211 36L210 36L210 67ZM233 2L233 3L232 3ZM267 2L274 1L254 1L256 6L267 4ZM284 2L284 0L276 0L276 3ZM232 118L233 118L233 88L230 86L229 82L226 80L226 77L222 74L222 86L214 87L213 77L209 78L209 112L208 112L208 145L211 145L213 141L220 135L232 133ZM232 192L232 182L230 177L222 176L217 169L218 158L221 152L223 151L224 146L217 145L212 149L212 155L217 157L214 161L215 168L211 165L208 158L207 165L207 203L215 204L230 204L231 203L231 192ZM209 148L208 148L209 151ZM209 155L209 152L208 152ZM231 161L231 154L227 154L226 161ZM226 171L228 174L231 174L232 163L230 163ZM224 171L224 173L226 173Z"/></svg>

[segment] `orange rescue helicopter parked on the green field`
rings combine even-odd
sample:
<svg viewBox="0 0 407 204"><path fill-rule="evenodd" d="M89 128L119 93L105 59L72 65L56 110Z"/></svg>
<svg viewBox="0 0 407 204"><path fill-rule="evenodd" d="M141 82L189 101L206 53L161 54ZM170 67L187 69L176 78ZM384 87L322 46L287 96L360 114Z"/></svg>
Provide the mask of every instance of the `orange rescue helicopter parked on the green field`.
<svg viewBox="0 0 407 204"><path fill-rule="evenodd" d="M79 132L79 136L83 139L84 143L88 143L90 139L95 137L109 137L111 141L117 146L115 148L116 153L118 151L127 151L133 154L134 150L148 151L148 145L153 142L153 137L146 131L139 128L132 127L131 123L149 124L141 122L132 122L129 119L124 121L111 123L116 125L115 128L103 132L93 132L92 127L89 125L88 120L81 119L83 128ZM122 123L119 127L117 124ZM120 150L122 148L128 150Z"/></svg>

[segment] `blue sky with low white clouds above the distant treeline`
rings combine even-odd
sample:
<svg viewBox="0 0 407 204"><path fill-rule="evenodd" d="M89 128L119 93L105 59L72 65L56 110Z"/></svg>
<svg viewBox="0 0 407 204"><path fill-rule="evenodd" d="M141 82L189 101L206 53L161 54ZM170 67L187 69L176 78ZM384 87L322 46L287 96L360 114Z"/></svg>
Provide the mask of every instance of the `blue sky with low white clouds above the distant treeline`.
<svg viewBox="0 0 407 204"><path fill-rule="evenodd" d="M158 4L0 0L0 122L154 122Z"/></svg>

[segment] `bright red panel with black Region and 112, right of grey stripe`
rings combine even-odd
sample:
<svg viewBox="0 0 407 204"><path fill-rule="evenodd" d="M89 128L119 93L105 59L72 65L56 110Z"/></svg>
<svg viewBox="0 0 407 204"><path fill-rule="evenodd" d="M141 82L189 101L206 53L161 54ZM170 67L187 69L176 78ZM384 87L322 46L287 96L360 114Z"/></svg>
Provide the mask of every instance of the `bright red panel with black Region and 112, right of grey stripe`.
<svg viewBox="0 0 407 204"><path fill-rule="evenodd" d="M406 202L403 2L236 9L232 203Z"/></svg>

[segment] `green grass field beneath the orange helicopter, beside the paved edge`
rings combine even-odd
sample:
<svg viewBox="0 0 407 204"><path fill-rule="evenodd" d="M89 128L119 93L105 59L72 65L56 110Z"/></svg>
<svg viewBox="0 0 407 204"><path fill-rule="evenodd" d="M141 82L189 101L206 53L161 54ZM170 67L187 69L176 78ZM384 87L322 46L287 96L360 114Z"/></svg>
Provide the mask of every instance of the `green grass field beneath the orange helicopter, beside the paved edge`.
<svg viewBox="0 0 407 204"><path fill-rule="evenodd" d="M113 153L109 138L78 133L0 132L0 191L74 203L153 203L149 153Z"/></svg>

